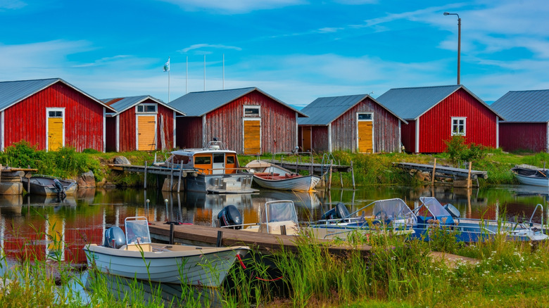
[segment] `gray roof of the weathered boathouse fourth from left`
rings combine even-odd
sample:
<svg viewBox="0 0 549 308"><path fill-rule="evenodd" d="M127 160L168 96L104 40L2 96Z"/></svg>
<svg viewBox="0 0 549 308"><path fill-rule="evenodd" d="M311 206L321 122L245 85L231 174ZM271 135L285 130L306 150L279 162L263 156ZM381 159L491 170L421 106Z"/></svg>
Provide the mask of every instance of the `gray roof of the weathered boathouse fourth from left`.
<svg viewBox="0 0 549 308"><path fill-rule="evenodd" d="M332 97L320 97L315 99L313 103L306 105L301 112L305 113L309 117L302 118L298 120L300 125L328 125L338 117L341 117L347 110L353 108L355 105L364 101L366 98L370 97L372 101L381 105L374 98L368 94L358 94L358 95L347 95L347 96L332 96ZM398 117L391 110L386 108L384 105L381 107L389 111L395 117ZM402 120L398 117L399 120Z"/></svg>

